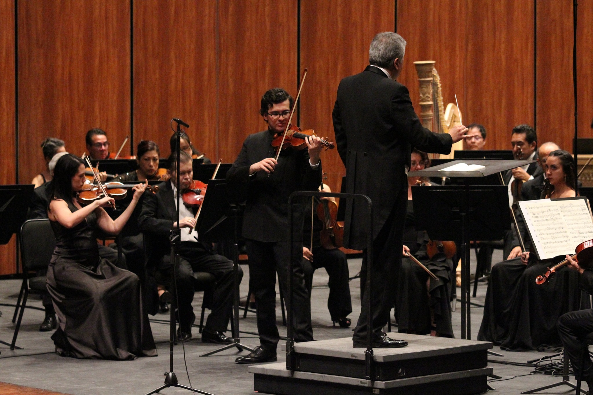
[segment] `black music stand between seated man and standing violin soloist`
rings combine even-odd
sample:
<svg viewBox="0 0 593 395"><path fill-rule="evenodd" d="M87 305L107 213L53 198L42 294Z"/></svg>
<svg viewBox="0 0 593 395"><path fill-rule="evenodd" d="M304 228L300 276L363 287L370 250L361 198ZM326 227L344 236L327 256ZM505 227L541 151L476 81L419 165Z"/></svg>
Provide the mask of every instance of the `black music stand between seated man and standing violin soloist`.
<svg viewBox="0 0 593 395"><path fill-rule="evenodd" d="M200 357L208 357L237 347L241 352L243 349L253 351L252 348L241 344L239 332L239 250L237 241L243 226L243 213L241 207L235 204L229 204L227 200L227 180L211 179L208 182L208 190L202 201L200 217L197 219L197 235L201 242L221 242L223 240L232 240L232 272L233 272L233 315L232 315L232 338L234 343L206 352Z"/></svg>

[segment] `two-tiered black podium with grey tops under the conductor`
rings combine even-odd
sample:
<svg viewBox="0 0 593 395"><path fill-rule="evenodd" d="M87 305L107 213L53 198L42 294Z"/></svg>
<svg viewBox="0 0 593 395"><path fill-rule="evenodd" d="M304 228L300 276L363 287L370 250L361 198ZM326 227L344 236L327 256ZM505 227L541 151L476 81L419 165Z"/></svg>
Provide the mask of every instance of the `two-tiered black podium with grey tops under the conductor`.
<svg viewBox="0 0 593 395"><path fill-rule="evenodd" d="M294 372L283 362L253 365L254 390L279 395L469 395L487 390L490 342L390 333L404 348L374 349L375 380L365 379L365 349L352 338L295 344Z"/></svg>

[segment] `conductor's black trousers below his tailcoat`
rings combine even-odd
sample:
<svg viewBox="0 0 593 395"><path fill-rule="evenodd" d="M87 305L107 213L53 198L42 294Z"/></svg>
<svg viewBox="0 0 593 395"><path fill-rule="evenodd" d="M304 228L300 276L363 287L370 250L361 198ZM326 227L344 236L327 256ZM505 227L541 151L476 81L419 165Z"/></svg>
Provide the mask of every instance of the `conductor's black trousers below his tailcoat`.
<svg viewBox="0 0 593 395"><path fill-rule="evenodd" d="M391 209L387 221L373 240L373 262L371 271L372 295L366 290L367 252L362 256L361 268L361 315L354 328L353 341L366 341L366 323L371 314L372 333L375 338L389 320L389 313L396 295L397 277L401 266L403 248L404 221L406 219L407 182L403 182L398 192L396 203ZM368 301L371 298L369 311Z"/></svg>

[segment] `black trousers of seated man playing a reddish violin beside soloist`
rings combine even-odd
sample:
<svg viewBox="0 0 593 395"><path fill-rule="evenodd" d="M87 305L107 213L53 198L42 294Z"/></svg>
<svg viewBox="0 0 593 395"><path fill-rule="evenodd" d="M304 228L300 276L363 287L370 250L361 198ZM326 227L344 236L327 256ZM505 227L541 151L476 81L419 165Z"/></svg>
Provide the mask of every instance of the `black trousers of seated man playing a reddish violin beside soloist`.
<svg viewBox="0 0 593 395"><path fill-rule="evenodd" d="M183 332L191 332L196 319L193 313L194 272L207 272L216 279L212 300L212 312L206 320L206 329L225 332L232 313L233 273L232 261L222 255L205 249L201 243L181 242L177 251L180 255L177 274L177 297L179 301L179 326ZM170 271L170 269L168 269ZM241 266L238 281L243 278ZM170 278L170 275L169 275ZM166 284L164 284L166 285Z"/></svg>

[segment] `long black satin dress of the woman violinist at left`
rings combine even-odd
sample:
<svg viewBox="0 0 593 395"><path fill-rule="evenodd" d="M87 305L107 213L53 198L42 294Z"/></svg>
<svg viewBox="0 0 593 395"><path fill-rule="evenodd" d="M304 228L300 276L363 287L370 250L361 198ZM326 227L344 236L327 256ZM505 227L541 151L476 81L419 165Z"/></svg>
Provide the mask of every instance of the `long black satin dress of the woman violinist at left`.
<svg viewBox="0 0 593 395"><path fill-rule="evenodd" d="M72 212L78 210L68 203ZM135 359L157 349L142 308L138 276L98 255L95 213L67 229L51 221L56 249L47 290L58 314L52 339L58 354L75 358Z"/></svg>

